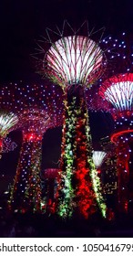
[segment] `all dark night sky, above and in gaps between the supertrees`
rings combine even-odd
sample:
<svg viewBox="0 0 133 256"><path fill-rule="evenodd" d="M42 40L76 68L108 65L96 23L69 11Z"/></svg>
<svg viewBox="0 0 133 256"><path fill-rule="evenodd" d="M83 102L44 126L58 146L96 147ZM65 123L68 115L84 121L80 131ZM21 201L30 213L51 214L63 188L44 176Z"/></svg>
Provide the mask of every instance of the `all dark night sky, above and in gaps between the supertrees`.
<svg viewBox="0 0 133 256"><path fill-rule="evenodd" d="M105 36L117 35L121 31L133 33L133 2L132 0L1 0L1 86L9 81L26 80L30 83L31 80L35 82L41 80L36 74L31 57L36 51L35 40L40 36L46 36L46 27L56 30L57 25L61 28L65 19L74 28L80 27L87 19L90 29L105 27ZM90 113L90 125L96 146L100 137L111 133L111 119L103 113ZM10 136L18 146L14 152L4 154L0 160L1 190L6 189L15 175L22 143L20 131L13 132ZM61 127L46 132L43 141L42 169L57 166L60 144Z"/></svg>

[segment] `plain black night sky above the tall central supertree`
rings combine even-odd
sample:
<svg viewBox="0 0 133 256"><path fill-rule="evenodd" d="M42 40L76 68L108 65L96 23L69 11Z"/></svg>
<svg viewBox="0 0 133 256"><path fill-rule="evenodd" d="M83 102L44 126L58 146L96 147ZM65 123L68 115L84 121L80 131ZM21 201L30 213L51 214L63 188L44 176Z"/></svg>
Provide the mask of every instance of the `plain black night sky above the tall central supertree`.
<svg viewBox="0 0 133 256"><path fill-rule="evenodd" d="M106 33L133 29L132 0L23 0L0 1L0 81L35 76L30 54L46 27L62 27L63 20L79 27L106 27Z"/></svg>

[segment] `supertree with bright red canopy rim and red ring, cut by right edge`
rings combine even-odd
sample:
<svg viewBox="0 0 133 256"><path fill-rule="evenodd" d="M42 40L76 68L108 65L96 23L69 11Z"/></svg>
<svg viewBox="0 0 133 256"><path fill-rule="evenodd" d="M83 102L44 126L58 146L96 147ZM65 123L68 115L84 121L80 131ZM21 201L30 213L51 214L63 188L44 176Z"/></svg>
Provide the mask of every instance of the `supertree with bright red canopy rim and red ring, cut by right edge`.
<svg viewBox="0 0 133 256"><path fill-rule="evenodd" d="M112 107L115 131L111 141L117 144L119 210L128 210L128 182L133 139L133 74L111 77L103 82L99 95Z"/></svg>

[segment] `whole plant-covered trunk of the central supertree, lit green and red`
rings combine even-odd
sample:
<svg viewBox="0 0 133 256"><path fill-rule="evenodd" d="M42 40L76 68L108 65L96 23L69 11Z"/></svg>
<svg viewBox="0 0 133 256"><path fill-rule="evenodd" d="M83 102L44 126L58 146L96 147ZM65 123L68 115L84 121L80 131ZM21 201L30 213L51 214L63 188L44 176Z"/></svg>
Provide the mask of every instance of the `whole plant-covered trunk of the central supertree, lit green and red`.
<svg viewBox="0 0 133 256"><path fill-rule="evenodd" d="M66 121L63 130L59 214L71 217L75 208L85 218L95 211L96 197L91 180L94 166L90 156L91 135L87 105L82 89L67 97Z"/></svg>

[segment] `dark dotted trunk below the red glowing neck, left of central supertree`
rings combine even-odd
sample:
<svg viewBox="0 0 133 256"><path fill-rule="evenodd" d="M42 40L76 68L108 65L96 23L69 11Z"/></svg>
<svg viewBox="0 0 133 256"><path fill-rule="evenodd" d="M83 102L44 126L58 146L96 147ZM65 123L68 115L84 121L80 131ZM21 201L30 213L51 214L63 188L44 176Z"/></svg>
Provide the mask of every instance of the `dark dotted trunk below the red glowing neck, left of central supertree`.
<svg viewBox="0 0 133 256"><path fill-rule="evenodd" d="M24 140L16 169L9 206L22 212L39 211L41 202L40 165L42 141Z"/></svg>

